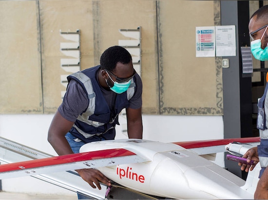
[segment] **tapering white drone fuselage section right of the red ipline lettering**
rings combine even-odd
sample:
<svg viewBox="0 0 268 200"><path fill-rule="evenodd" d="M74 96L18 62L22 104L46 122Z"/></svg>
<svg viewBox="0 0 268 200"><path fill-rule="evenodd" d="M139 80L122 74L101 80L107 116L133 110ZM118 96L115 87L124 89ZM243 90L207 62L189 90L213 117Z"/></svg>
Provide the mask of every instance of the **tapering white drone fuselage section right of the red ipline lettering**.
<svg viewBox="0 0 268 200"><path fill-rule="evenodd" d="M161 153L150 186L156 196L172 199L241 199L245 182L226 169L187 151ZM159 160L160 160L160 153ZM174 159L176 156L176 159ZM154 157L154 159L157 156Z"/></svg>

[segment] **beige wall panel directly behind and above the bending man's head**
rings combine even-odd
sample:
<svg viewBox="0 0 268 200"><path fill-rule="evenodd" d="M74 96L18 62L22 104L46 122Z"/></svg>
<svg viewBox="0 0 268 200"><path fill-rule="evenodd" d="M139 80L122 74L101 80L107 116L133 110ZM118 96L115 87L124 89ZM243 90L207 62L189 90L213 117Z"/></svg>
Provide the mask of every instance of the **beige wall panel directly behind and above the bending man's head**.
<svg viewBox="0 0 268 200"><path fill-rule="evenodd" d="M98 59L105 49L118 45L118 40L128 39L119 33L119 29L141 27L143 113L156 114L158 112L158 76L155 1L112 0L97 1L94 5L98 6L98 12L95 15L97 23L95 52Z"/></svg>

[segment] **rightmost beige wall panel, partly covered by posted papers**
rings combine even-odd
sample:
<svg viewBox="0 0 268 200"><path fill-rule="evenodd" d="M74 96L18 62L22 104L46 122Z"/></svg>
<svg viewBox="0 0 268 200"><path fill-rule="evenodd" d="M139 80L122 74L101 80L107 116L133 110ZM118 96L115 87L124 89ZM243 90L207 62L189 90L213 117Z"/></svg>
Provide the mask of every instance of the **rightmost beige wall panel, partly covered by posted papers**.
<svg viewBox="0 0 268 200"><path fill-rule="evenodd" d="M195 27L219 25L219 3L170 0L158 7L161 113L222 115L218 58L195 57Z"/></svg>

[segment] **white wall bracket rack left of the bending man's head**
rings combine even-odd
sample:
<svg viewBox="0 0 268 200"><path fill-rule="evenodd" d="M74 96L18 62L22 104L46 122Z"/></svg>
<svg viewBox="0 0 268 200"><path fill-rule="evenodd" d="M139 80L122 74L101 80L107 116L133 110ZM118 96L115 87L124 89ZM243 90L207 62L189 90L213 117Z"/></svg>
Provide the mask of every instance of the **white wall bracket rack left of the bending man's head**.
<svg viewBox="0 0 268 200"><path fill-rule="evenodd" d="M80 65L80 30L77 29L76 32L61 32L60 35L65 39L69 40L69 42L61 42L60 43L60 51L72 58L62 58L60 59L60 66L66 72L75 73L81 70ZM70 74L62 74L60 75L60 83L67 87L68 81L67 76ZM63 99L66 91L61 91L61 98Z"/></svg>

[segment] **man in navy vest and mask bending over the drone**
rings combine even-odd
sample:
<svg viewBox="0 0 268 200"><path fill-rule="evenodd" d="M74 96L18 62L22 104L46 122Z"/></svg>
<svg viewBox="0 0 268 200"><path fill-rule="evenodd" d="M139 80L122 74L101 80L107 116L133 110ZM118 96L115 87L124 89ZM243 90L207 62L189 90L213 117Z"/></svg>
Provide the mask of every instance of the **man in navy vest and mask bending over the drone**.
<svg viewBox="0 0 268 200"><path fill-rule="evenodd" d="M118 114L126 108L129 138L142 139L142 82L131 54L119 46L100 57L100 65L71 74L62 104L51 122L48 141L58 155L78 153L82 145L115 139ZM111 185L96 169L77 172L93 188ZM78 199L83 197L78 195Z"/></svg>

